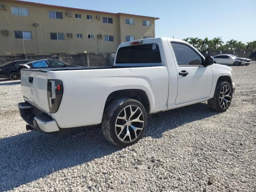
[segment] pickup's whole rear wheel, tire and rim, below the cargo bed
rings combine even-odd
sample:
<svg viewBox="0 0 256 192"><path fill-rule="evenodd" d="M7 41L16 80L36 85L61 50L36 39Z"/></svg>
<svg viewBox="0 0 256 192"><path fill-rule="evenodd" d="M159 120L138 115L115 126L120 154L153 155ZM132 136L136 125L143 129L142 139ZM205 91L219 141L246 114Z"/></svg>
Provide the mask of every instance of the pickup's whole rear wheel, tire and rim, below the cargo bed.
<svg viewBox="0 0 256 192"><path fill-rule="evenodd" d="M137 100L114 100L102 117L102 132L106 139L119 147L136 143L142 137L147 124L144 106Z"/></svg>

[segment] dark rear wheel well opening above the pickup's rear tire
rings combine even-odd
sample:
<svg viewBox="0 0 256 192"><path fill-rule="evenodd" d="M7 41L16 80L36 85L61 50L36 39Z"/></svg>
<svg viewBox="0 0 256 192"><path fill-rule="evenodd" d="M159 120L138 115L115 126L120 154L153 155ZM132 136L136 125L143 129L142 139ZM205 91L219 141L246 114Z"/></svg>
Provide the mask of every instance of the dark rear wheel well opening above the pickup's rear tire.
<svg viewBox="0 0 256 192"><path fill-rule="evenodd" d="M147 113L150 113L150 100L148 98L148 95L144 90L141 89L123 89L123 90L116 90L112 93L110 93L106 99L105 108L114 100L119 98L132 98L136 99L144 106Z"/></svg>

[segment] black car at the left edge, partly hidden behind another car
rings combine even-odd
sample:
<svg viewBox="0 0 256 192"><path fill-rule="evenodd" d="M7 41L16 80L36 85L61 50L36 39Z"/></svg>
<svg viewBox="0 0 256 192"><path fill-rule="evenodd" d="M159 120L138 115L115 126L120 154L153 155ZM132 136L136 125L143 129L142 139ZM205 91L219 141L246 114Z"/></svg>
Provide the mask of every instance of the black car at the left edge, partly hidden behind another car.
<svg viewBox="0 0 256 192"><path fill-rule="evenodd" d="M19 80L18 65L25 64L34 60L16 60L0 65L0 78L10 78L11 80Z"/></svg>

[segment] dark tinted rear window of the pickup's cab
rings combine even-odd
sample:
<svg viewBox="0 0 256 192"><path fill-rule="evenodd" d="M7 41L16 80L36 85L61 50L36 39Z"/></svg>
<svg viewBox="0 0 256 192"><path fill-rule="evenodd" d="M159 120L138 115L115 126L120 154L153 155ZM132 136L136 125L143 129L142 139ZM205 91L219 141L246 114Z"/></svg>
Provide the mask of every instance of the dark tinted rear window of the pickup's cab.
<svg viewBox="0 0 256 192"><path fill-rule="evenodd" d="M159 66L161 63L160 50L156 43L121 47L116 56L116 64L118 66L128 66L127 64Z"/></svg>

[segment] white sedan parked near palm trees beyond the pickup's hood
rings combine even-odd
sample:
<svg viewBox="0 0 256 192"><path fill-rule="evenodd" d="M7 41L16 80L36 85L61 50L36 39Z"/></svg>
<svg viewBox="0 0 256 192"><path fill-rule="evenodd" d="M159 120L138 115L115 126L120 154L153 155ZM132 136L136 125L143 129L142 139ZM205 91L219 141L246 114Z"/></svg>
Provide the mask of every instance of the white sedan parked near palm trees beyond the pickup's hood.
<svg viewBox="0 0 256 192"><path fill-rule="evenodd" d="M234 55L222 54L216 55L213 57L214 63L223 64L223 65L250 65L250 59L238 58Z"/></svg>

